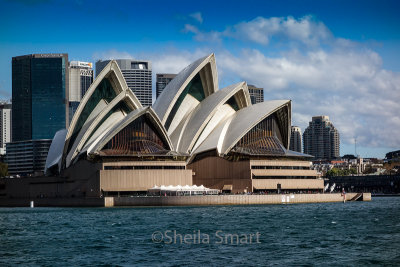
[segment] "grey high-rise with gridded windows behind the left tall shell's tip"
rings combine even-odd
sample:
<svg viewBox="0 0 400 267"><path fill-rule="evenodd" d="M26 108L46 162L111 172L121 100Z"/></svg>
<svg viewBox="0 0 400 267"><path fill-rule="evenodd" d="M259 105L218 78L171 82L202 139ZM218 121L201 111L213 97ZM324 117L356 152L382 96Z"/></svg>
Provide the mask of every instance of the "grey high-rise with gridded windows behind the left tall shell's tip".
<svg viewBox="0 0 400 267"><path fill-rule="evenodd" d="M151 106L153 103L151 62L133 59L117 59L116 61L129 89L135 93L143 106ZM96 62L96 76L109 62L110 60Z"/></svg>

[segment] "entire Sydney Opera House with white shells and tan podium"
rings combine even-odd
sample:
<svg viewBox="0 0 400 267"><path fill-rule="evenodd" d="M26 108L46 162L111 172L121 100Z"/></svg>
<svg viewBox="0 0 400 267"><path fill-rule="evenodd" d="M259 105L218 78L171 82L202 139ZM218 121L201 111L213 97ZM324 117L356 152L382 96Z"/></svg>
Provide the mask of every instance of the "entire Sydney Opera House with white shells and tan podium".
<svg viewBox="0 0 400 267"><path fill-rule="evenodd" d="M134 195L155 185L322 192L310 156L289 150L290 127L290 100L252 105L246 82L220 89L214 54L184 68L152 107L110 61L69 129L55 135L47 177L31 190L49 197Z"/></svg>

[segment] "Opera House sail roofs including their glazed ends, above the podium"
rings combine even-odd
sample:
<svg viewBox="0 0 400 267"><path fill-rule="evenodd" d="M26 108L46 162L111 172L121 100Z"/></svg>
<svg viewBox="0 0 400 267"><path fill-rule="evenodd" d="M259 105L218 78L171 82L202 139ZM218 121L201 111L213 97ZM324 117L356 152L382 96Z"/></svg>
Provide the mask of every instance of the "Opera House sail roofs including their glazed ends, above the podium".
<svg viewBox="0 0 400 267"><path fill-rule="evenodd" d="M264 156L290 153L291 101L251 104L246 82L218 88L214 54L184 68L153 107L143 107L112 60L83 97L68 130L58 132L46 169L82 158L184 156L215 151Z"/></svg>

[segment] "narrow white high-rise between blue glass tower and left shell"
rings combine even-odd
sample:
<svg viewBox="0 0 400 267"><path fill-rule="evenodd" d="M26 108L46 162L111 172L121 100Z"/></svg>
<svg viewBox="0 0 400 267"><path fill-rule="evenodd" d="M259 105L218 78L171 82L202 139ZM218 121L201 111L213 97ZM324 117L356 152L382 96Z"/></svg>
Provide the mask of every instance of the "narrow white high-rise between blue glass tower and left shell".
<svg viewBox="0 0 400 267"><path fill-rule="evenodd" d="M75 114L82 97L93 83L93 65L90 62L69 63L69 122Z"/></svg>

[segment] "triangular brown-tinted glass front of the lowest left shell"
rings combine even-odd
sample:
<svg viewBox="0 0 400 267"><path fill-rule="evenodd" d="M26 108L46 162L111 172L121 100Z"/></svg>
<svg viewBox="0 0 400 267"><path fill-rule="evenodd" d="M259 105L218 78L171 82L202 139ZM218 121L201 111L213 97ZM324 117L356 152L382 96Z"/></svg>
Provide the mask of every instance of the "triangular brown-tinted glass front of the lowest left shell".
<svg viewBox="0 0 400 267"><path fill-rule="evenodd" d="M168 145L157 134L152 122L143 115L117 133L101 150L101 155L166 154Z"/></svg>

